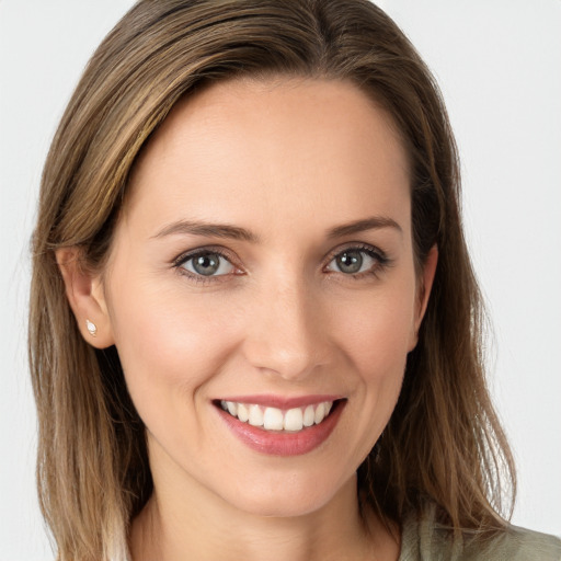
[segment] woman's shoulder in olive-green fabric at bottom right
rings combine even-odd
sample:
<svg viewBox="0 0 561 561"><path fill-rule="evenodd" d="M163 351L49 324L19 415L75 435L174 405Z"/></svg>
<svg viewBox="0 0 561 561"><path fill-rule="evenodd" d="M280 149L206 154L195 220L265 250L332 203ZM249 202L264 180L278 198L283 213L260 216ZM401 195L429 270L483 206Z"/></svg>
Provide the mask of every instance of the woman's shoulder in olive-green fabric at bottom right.
<svg viewBox="0 0 561 561"><path fill-rule="evenodd" d="M561 561L561 539L517 526L488 539L468 531L454 539L432 516L409 518L399 561Z"/></svg>

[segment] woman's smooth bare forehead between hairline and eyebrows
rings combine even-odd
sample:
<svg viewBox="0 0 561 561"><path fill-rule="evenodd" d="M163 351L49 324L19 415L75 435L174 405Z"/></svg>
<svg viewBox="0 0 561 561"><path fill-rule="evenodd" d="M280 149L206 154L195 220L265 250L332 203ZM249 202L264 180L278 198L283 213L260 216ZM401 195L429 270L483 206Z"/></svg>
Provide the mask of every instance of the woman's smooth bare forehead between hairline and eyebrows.
<svg viewBox="0 0 561 561"><path fill-rule="evenodd" d="M255 221L257 210L268 229L277 217L399 214L408 158L388 114L351 83L231 80L174 107L135 167L127 206L159 221Z"/></svg>

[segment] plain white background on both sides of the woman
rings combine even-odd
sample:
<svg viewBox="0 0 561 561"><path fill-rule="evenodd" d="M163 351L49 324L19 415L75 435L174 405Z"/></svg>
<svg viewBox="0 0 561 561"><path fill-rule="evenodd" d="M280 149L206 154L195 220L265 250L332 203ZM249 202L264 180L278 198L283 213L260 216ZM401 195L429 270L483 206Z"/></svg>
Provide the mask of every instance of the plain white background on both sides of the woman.
<svg viewBox="0 0 561 561"><path fill-rule="evenodd" d="M0 0L0 561L53 559L34 488L27 242L81 70L130 0ZM514 523L561 534L561 0L380 2L436 75L495 327L490 383L519 469Z"/></svg>

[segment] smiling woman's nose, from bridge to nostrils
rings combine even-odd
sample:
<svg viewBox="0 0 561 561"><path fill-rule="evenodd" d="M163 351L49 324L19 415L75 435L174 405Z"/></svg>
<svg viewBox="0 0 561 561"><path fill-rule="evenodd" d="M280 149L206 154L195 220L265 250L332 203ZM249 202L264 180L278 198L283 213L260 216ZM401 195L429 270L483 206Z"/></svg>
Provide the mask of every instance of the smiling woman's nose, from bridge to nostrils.
<svg viewBox="0 0 561 561"><path fill-rule="evenodd" d="M273 284L247 316L245 358L286 380L302 380L330 360L332 345L321 298L302 282Z"/></svg>

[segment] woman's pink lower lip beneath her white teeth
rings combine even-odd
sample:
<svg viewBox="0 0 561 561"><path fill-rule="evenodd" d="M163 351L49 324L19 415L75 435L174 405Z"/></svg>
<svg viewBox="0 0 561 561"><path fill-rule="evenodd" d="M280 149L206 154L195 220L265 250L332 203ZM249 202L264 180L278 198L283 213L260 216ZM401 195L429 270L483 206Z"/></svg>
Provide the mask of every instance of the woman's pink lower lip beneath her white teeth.
<svg viewBox="0 0 561 561"><path fill-rule="evenodd" d="M345 403L346 401L337 402L331 414L319 425L302 428L297 433L265 431L263 427L242 423L222 409L217 408L217 411L234 436L251 449L271 456L299 456L318 448L329 438Z"/></svg>

